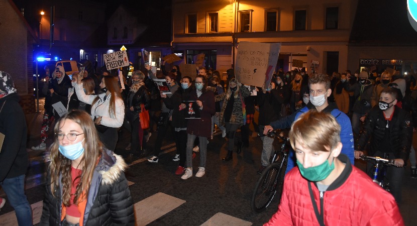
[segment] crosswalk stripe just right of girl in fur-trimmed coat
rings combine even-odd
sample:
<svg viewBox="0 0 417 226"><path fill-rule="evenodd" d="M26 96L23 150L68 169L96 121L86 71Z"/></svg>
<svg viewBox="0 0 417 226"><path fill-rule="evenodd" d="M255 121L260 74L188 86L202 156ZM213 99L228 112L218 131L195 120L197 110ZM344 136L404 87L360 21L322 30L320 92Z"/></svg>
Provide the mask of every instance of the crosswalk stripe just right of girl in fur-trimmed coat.
<svg viewBox="0 0 417 226"><path fill-rule="evenodd" d="M185 200L162 192L145 198L142 201L135 203L136 225L146 225L183 203L185 203Z"/></svg>

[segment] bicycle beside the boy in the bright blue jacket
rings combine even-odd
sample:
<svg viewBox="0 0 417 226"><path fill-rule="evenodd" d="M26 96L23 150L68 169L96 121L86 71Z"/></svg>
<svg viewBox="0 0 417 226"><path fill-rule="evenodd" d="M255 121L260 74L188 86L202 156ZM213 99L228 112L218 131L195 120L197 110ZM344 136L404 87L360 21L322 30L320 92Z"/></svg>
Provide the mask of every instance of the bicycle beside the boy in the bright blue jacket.
<svg viewBox="0 0 417 226"><path fill-rule="evenodd" d="M286 148L289 138L283 137L283 134L276 135L271 132L269 137L277 137L283 141L281 149L275 150L273 157L270 159L270 165L261 173L256 182L255 190L252 194L251 209L259 213L264 211L274 198L278 184L282 185L282 172L285 172L286 160L288 159L288 149Z"/></svg>

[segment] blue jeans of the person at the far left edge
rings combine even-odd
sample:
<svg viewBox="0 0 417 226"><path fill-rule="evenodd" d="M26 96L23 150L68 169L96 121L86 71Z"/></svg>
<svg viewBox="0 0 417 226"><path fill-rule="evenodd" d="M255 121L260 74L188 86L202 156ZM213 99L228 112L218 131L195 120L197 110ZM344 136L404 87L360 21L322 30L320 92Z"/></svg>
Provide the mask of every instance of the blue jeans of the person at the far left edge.
<svg viewBox="0 0 417 226"><path fill-rule="evenodd" d="M33 225L32 207L25 195L25 174L6 178L0 182L0 185L2 185L10 204L15 209L19 226Z"/></svg>

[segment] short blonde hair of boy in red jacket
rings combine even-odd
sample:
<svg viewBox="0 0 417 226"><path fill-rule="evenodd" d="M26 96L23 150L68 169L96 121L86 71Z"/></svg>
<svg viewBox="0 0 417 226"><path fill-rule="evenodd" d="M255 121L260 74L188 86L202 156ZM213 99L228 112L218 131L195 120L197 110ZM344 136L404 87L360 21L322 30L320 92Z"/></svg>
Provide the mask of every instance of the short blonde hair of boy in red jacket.
<svg viewBox="0 0 417 226"><path fill-rule="evenodd" d="M295 141L312 151L331 151L340 142L341 127L330 113L309 110L291 126L289 139L295 150Z"/></svg>

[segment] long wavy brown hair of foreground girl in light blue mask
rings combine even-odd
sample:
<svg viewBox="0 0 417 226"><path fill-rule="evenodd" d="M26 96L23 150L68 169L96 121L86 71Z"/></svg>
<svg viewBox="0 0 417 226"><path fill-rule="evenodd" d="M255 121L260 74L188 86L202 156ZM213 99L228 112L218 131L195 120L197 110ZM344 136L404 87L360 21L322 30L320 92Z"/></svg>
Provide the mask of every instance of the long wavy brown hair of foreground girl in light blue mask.
<svg viewBox="0 0 417 226"><path fill-rule="evenodd" d="M62 116L59 121L55 124L54 133L57 134L59 129L62 128L65 120L71 120L78 124L82 132L84 133L84 156L80 161L79 169L82 169L80 183L77 185L74 194L74 203L77 203L78 199L82 196L82 199L88 197L88 190L90 188L91 178L94 172L94 168L97 164L98 158L101 156L103 145L98 138L97 131L94 127L94 123L87 112L82 110L73 110ZM61 127L60 127L61 126ZM48 170L51 175L50 189L51 193L55 196L56 190L59 188L59 182L62 183L62 202L65 206L70 205L71 199L71 160L64 157L58 150L59 144L58 139L54 140L51 145L51 163L49 164ZM61 181L59 181L59 177ZM75 178L74 178L75 179Z"/></svg>

